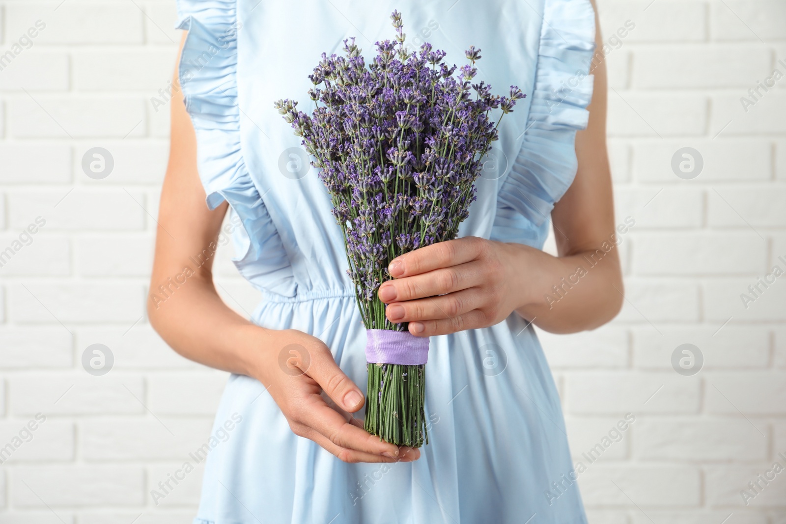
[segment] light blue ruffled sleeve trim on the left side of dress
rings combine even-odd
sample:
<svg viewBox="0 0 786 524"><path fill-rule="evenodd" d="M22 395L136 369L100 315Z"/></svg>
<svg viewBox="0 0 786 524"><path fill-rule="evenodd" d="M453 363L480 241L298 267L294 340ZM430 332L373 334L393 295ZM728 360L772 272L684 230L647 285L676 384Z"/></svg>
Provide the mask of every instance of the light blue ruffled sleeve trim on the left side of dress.
<svg viewBox="0 0 786 524"><path fill-rule="evenodd" d="M240 273L259 288L288 294L292 269L241 151L237 0L178 0L178 18L178 29L188 31L178 79L196 132L208 207L226 200L243 225L233 231Z"/></svg>

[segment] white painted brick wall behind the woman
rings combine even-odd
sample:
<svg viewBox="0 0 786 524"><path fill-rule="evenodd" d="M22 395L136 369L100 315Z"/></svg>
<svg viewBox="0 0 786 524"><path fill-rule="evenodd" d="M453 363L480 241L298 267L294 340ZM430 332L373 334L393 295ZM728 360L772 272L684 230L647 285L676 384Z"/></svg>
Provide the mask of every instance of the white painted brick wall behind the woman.
<svg viewBox="0 0 786 524"><path fill-rule="evenodd" d="M627 299L595 332L542 336L575 460L636 416L579 478L590 522L786 524L786 473L740 497L786 466L786 277L740 299L786 269L786 79L740 103L786 72L786 3L598 1L607 42L635 24L607 59L617 218L636 220ZM0 268L0 447L46 416L0 467L0 522L193 517L201 469L158 505L149 493L204 441L226 380L144 317L168 134L150 97L171 77L174 18L172 0L0 0L0 51L46 24L0 71L0 250L46 220ZM83 173L94 147L112 153L108 178ZM703 158L692 180L671 169L684 147ZM250 311L229 255L221 293ZM81 364L96 343L106 376ZM683 343L703 354L696 375L672 368Z"/></svg>

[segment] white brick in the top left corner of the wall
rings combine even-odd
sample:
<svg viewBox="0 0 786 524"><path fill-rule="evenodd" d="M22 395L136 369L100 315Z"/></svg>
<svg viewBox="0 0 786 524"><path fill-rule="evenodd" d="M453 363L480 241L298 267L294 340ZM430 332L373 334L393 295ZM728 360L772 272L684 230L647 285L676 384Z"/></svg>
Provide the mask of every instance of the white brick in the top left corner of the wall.
<svg viewBox="0 0 786 524"><path fill-rule="evenodd" d="M34 45L134 44L142 42L141 11L133 3L96 4L69 2L13 2L6 5L9 38L16 40L36 20L46 24L33 39Z"/></svg>

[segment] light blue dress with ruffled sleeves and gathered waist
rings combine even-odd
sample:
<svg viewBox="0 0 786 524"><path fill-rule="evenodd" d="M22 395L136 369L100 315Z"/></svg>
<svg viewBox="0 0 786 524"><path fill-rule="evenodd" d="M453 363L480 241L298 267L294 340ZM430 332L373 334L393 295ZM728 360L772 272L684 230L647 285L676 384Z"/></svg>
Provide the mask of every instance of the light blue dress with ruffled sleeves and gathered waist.
<svg viewBox="0 0 786 524"><path fill-rule="evenodd" d="M180 78L198 142L208 206L230 203L237 269L263 293L254 320L323 340L365 387L365 332L345 270L341 231L299 139L273 107L309 111L307 79L322 52L356 36L368 59L392 38L447 52L483 50L479 79L527 98L500 141L461 226L541 248L553 203L575 177L575 132L586 126L594 49L589 0L180 0L189 31ZM477 79L476 79L477 80ZM302 167L302 166L301 166ZM490 328L432 337L430 443L412 464L344 464L292 434L255 379L231 376L215 431L242 417L208 456L197 524L586 522L560 399L534 331L515 313ZM362 416L362 413L360 414ZM566 480L567 479L567 480ZM556 482L556 484L555 484ZM560 486L559 490L555 486ZM546 493L550 490L552 495ZM556 496L558 495L558 496Z"/></svg>

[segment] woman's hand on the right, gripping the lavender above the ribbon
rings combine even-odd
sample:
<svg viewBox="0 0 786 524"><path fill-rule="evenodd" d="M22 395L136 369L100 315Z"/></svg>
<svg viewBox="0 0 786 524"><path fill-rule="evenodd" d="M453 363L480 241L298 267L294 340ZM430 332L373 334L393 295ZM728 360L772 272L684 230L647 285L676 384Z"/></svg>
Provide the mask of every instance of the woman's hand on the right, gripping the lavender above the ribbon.
<svg viewBox="0 0 786 524"><path fill-rule="evenodd" d="M395 258L388 267L395 280L378 291L387 320L409 322L410 333L424 337L498 324L521 303L512 287L521 260L512 251L520 250L465 236Z"/></svg>

